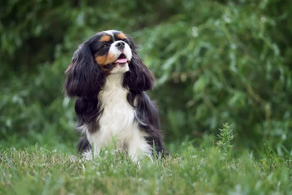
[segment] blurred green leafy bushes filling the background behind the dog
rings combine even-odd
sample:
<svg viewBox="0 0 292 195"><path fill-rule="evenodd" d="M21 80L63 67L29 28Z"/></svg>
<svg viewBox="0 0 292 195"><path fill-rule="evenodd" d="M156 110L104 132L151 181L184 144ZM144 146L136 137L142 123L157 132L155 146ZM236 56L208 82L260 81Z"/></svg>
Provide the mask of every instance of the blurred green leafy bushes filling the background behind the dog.
<svg viewBox="0 0 292 195"><path fill-rule="evenodd" d="M93 33L140 44L168 141L233 124L237 146L292 147L292 2L14 0L0 8L0 139L75 142L64 70Z"/></svg>

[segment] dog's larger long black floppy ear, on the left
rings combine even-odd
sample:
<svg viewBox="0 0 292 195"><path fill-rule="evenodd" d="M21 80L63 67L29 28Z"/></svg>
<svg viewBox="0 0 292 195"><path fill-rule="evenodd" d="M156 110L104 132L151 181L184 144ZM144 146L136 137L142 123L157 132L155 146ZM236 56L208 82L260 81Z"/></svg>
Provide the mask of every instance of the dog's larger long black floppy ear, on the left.
<svg viewBox="0 0 292 195"><path fill-rule="evenodd" d="M65 74L63 88L70 98L96 97L105 82L104 73L94 61L88 42L79 45Z"/></svg>

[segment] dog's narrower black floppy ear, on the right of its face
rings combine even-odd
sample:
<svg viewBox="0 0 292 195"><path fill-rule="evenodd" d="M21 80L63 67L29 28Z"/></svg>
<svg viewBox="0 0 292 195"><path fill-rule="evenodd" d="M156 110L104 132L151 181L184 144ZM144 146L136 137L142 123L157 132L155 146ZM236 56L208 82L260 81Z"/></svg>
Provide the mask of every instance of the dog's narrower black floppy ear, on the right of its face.
<svg viewBox="0 0 292 195"><path fill-rule="evenodd" d="M134 91L150 90L154 86L155 77L139 57L134 40L130 37L127 39L132 50L132 59L129 63L130 70L125 74L124 85Z"/></svg>

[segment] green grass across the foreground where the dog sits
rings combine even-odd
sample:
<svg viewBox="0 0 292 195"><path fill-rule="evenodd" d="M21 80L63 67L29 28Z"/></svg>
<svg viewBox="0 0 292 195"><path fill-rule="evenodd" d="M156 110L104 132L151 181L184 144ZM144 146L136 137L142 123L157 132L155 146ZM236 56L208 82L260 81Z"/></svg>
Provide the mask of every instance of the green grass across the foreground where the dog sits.
<svg viewBox="0 0 292 195"><path fill-rule="evenodd" d="M100 158L72 160L69 153L33 147L3 149L3 195L288 195L292 194L292 158L268 147L235 154L234 135L223 126L219 144L194 148L161 161L141 161L104 151Z"/></svg>

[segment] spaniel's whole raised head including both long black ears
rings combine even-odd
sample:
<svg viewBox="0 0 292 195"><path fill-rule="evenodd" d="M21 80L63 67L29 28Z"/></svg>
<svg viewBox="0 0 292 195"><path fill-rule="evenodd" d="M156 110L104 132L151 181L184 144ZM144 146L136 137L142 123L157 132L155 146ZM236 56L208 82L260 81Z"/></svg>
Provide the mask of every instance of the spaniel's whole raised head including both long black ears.
<svg viewBox="0 0 292 195"><path fill-rule="evenodd" d="M115 30L96 33L80 44L65 73L64 89L72 98L96 97L111 74L124 74L124 87L134 91L149 90L155 81L134 40Z"/></svg>

